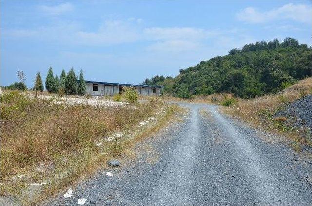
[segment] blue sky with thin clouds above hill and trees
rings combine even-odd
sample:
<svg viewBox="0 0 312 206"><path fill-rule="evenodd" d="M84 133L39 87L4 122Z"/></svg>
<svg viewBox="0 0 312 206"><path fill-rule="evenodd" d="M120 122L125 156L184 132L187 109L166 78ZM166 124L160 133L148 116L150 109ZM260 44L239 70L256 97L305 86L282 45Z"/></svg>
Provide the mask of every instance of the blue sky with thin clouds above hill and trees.
<svg viewBox="0 0 312 206"><path fill-rule="evenodd" d="M226 55L246 43L293 37L312 46L309 0L1 0L0 85L45 81L74 67L86 80L141 83Z"/></svg>

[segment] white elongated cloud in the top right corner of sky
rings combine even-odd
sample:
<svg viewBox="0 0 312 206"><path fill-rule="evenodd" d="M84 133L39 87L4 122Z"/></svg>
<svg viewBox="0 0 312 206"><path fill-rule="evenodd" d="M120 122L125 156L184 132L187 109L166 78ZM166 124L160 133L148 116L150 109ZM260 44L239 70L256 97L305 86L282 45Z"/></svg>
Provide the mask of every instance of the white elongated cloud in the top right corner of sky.
<svg viewBox="0 0 312 206"><path fill-rule="evenodd" d="M253 7L247 7L236 14L240 21L248 23L265 23L273 20L291 19L303 23L312 23L312 6L305 4L286 4L277 9L260 12Z"/></svg>

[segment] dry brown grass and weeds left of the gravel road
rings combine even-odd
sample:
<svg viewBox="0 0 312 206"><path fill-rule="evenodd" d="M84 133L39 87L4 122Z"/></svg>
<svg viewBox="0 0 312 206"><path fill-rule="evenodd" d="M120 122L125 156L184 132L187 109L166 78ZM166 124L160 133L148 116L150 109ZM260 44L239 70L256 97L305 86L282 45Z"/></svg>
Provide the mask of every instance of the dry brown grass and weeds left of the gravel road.
<svg viewBox="0 0 312 206"><path fill-rule="evenodd" d="M149 129L153 132L177 109L155 97L117 108L64 106L53 103L53 99L35 100L17 92L0 98L0 192L24 198L22 189L29 183L49 182L44 192L54 193L131 146L129 141L117 138L98 147L98 139L133 130L140 121L165 108L159 123ZM105 155L101 154L103 150Z"/></svg>

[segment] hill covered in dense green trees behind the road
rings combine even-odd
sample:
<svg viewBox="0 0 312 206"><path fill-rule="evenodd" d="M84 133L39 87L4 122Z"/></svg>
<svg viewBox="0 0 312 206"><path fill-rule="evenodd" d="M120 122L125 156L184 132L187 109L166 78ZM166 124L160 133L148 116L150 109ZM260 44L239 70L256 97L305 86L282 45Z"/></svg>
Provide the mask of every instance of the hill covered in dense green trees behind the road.
<svg viewBox="0 0 312 206"><path fill-rule="evenodd" d="M308 76L312 76L312 48L286 38L281 43L274 39L234 48L229 55L181 69L175 78L157 75L143 84L164 85L166 93L182 98L215 92L253 98Z"/></svg>

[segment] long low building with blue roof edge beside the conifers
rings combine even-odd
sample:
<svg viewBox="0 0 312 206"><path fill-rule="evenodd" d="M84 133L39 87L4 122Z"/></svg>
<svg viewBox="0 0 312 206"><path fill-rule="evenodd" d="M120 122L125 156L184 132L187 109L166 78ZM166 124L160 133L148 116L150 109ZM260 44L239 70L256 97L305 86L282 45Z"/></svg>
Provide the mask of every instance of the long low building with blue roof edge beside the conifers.
<svg viewBox="0 0 312 206"><path fill-rule="evenodd" d="M130 87L137 91L139 95L157 95L161 94L163 86L152 86L152 85L133 85L133 84L122 84L112 82L96 82L96 81L85 81L87 88L86 93L95 96L112 96L115 94L121 94L124 87Z"/></svg>

